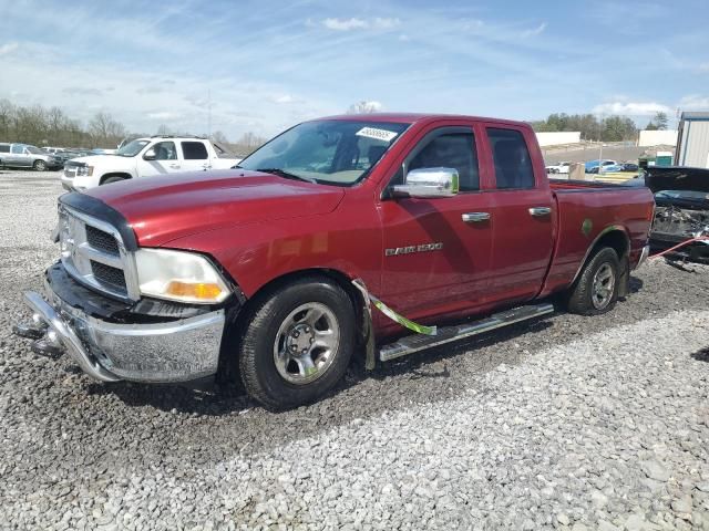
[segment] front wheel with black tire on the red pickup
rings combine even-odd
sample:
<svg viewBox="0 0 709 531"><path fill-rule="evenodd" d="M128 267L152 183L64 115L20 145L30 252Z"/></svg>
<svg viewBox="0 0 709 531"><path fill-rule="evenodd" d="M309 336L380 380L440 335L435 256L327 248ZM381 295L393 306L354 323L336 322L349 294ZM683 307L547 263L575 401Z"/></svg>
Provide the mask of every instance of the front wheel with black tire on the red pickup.
<svg viewBox="0 0 709 531"><path fill-rule="evenodd" d="M302 330L300 330L302 335L294 339L294 334L298 335L296 329L306 323L305 320L297 319L298 310L304 306L326 308L329 313L321 319L327 319L327 322L337 321L339 341L335 348L320 352L318 351L320 347L316 344L309 347L307 354L304 348L302 355L298 351L292 354L288 350L288 346L296 346L288 342L302 341L306 345L308 341L314 343L312 337ZM317 315L317 312L315 314ZM255 306L245 317L239 372L246 392L266 408L282 410L314 402L331 389L345 375L356 346L356 315L350 298L336 283L319 277L296 280L256 300ZM321 326L325 322L320 321L317 326ZM294 326L289 326L291 323ZM314 334L317 326L314 325L311 329ZM298 344L297 348L300 346L302 345ZM327 352L329 355L322 362ZM306 356L311 361L315 360L315 371L320 371L319 375L306 371L302 376L301 363L296 363L292 357L302 361ZM290 362L278 363L277 358L290 360ZM282 371L288 371L288 367L292 373L287 372L284 376ZM286 379L287 377L302 381L294 383ZM311 377L315 379L308 381Z"/></svg>

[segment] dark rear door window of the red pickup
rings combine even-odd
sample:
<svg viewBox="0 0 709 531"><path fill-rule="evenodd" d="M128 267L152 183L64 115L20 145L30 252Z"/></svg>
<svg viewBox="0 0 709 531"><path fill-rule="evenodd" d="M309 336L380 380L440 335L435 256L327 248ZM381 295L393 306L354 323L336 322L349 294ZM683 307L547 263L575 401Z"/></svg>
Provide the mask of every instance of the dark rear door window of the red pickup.
<svg viewBox="0 0 709 531"><path fill-rule="evenodd" d="M534 169L524 136L516 129L489 127L487 139L499 189L534 188Z"/></svg>

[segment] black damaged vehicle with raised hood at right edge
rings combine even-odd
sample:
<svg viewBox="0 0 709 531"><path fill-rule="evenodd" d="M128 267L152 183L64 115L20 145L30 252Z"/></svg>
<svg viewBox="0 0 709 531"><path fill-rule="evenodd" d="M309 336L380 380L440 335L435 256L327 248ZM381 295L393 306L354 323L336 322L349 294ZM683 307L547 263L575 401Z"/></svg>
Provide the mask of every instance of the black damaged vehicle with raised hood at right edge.
<svg viewBox="0 0 709 531"><path fill-rule="evenodd" d="M638 179L639 180L639 179ZM709 263L709 169L649 167L645 185L655 194L655 220L650 252L668 251L668 258Z"/></svg>

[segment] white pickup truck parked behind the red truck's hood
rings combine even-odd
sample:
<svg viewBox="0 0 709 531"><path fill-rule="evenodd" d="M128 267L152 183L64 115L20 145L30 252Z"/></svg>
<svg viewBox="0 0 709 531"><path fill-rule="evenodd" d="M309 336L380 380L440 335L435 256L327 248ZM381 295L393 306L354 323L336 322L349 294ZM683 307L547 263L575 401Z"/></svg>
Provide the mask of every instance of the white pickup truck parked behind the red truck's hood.
<svg viewBox="0 0 709 531"><path fill-rule="evenodd" d="M114 155L94 155L68 160L62 186L85 190L119 180L178 171L227 169L239 158L229 158L219 145L201 137L153 136L136 138Z"/></svg>

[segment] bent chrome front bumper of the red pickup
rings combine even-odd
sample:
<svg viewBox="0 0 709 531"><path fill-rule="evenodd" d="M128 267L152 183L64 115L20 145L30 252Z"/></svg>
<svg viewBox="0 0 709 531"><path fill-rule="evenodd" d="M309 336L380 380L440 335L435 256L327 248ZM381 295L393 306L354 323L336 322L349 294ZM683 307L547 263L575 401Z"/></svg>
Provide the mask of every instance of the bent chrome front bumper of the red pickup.
<svg viewBox="0 0 709 531"><path fill-rule="evenodd" d="M88 315L45 284L47 299L24 294L41 330L89 376L102 382L186 382L216 374L225 311L148 323L113 323Z"/></svg>

